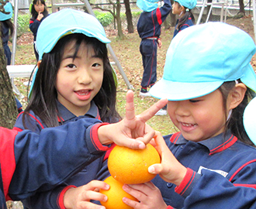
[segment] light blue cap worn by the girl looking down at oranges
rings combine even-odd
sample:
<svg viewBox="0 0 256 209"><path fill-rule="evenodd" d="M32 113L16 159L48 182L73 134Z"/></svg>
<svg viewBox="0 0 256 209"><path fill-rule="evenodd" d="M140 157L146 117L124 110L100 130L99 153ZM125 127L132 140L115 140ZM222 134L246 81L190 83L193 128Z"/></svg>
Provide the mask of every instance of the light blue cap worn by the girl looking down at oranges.
<svg viewBox="0 0 256 209"><path fill-rule="evenodd" d="M188 100L238 79L256 91L250 64L254 53L251 36L235 26L223 22L191 26L172 39L164 75L150 88L150 94L170 101Z"/></svg>

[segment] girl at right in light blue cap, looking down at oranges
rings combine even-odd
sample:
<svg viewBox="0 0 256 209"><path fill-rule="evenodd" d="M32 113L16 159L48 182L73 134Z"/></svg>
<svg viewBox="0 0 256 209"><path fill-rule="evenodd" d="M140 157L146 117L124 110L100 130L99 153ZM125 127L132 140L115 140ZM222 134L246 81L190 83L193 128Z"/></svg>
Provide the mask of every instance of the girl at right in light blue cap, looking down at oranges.
<svg viewBox="0 0 256 209"><path fill-rule="evenodd" d="M159 176L123 187L140 200L126 198L126 204L255 208L256 149L243 125L244 108L256 91L250 64L255 49L251 36L223 22L189 27L171 41L164 76L150 94L168 99L178 132L164 139L157 134L161 164L149 172Z"/></svg>

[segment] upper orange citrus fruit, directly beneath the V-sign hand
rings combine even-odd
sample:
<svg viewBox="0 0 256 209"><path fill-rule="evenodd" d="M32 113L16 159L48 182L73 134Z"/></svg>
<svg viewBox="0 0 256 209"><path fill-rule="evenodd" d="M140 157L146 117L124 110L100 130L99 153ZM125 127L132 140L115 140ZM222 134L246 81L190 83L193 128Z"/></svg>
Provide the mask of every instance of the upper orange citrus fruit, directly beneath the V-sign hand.
<svg viewBox="0 0 256 209"><path fill-rule="evenodd" d="M156 176L147 171L155 163L161 163L161 159L150 144L146 149L115 146L109 154L108 168L111 176L121 183L145 183Z"/></svg>

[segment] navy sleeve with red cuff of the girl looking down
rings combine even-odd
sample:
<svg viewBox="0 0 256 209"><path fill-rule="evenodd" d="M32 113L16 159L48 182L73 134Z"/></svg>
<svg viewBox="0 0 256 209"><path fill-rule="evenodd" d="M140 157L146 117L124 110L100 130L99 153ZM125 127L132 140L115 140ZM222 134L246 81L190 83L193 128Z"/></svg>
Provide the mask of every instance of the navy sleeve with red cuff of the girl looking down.
<svg viewBox="0 0 256 209"><path fill-rule="evenodd" d="M188 169L175 191L185 197L184 209L256 208L256 190L235 185L219 173L202 170L199 174Z"/></svg>

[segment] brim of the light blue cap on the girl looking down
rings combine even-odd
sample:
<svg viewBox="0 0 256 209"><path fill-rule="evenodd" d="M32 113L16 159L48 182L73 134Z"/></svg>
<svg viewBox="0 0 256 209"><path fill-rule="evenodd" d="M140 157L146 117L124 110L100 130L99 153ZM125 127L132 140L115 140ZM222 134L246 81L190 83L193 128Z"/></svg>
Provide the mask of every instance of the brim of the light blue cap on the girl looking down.
<svg viewBox="0 0 256 209"><path fill-rule="evenodd" d="M199 98L215 91L223 81L184 83L164 80L161 78L150 88L150 95L154 98L167 98L169 101L181 101Z"/></svg>

